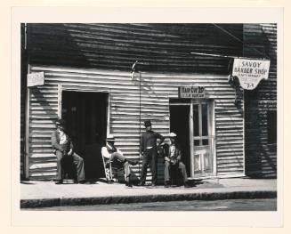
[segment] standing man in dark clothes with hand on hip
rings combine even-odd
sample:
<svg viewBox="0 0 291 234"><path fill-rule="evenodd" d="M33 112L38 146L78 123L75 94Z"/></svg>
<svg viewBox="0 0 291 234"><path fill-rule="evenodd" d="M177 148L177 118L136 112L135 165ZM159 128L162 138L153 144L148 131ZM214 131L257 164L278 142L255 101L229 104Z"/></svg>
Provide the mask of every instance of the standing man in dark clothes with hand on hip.
<svg viewBox="0 0 291 234"><path fill-rule="evenodd" d="M140 186L145 184L148 165L151 161L151 173L152 173L152 186L157 185L157 162L158 162L158 151L157 151L157 140L159 139L158 146L160 146L165 140L164 136L159 133L155 133L151 130L150 120L144 121L146 132L141 134L141 155L142 155L142 167L141 167L141 182Z"/></svg>

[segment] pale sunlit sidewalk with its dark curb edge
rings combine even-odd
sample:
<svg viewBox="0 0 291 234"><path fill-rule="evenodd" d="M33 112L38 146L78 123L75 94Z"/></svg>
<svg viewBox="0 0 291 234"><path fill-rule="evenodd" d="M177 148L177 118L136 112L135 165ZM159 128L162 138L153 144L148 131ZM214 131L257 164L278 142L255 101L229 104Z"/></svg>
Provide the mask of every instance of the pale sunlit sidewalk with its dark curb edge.
<svg viewBox="0 0 291 234"><path fill-rule="evenodd" d="M162 185L127 188L122 183L101 181L61 185L41 181L20 183L20 208L244 198L277 198L277 180L211 179L198 181L191 188Z"/></svg>

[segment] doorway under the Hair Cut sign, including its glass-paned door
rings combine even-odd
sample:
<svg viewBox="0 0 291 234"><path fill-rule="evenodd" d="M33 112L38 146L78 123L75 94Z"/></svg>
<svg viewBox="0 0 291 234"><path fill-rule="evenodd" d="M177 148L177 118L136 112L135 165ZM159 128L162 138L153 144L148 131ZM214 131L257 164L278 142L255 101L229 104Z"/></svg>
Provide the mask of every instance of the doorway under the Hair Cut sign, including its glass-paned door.
<svg viewBox="0 0 291 234"><path fill-rule="evenodd" d="M177 133L182 161L192 178L213 176L214 101L207 99L170 100L170 130Z"/></svg>

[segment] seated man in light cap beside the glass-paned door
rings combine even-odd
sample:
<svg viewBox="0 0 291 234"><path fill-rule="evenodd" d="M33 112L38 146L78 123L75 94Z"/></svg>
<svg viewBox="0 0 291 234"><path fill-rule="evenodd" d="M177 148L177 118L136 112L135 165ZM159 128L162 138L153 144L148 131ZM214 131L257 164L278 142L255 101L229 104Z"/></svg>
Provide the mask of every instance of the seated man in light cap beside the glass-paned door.
<svg viewBox="0 0 291 234"><path fill-rule="evenodd" d="M189 188L186 166L181 161L181 149L176 143L176 136L175 133L170 133L171 144L165 147L165 187L167 188L170 185L170 167L179 166L182 172L184 186L185 188Z"/></svg>

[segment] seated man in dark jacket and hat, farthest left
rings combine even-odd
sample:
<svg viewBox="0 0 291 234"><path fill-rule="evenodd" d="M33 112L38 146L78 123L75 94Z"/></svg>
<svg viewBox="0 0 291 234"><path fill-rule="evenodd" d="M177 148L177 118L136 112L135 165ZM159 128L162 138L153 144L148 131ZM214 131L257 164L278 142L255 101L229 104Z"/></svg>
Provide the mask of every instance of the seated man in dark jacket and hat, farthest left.
<svg viewBox="0 0 291 234"><path fill-rule="evenodd" d="M55 183L62 183L62 167L66 161L72 161L75 165L77 171L77 178L75 179L75 183L84 183L84 160L74 152L73 142L66 132L65 121L58 119L56 121L56 126L57 130L52 133L52 146L54 149L54 154L57 157L57 182Z"/></svg>

